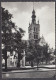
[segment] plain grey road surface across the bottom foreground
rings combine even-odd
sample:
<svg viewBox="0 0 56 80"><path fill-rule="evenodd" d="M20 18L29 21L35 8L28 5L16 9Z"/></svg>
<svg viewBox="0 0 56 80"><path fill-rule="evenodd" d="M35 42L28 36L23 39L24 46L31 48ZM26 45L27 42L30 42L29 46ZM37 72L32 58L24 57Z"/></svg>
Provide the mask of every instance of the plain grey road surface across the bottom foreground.
<svg viewBox="0 0 56 80"><path fill-rule="evenodd" d="M2 74L2 78L53 78L55 75L54 70L16 70Z"/></svg>

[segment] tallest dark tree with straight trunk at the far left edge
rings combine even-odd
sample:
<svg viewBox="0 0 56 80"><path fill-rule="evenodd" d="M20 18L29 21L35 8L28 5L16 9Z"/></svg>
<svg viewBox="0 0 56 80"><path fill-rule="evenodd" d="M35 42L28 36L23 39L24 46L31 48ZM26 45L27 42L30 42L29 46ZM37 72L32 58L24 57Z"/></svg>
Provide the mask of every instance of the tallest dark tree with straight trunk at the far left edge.
<svg viewBox="0 0 56 80"><path fill-rule="evenodd" d="M12 14L2 8L2 44L4 44L5 70L7 70L7 50L10 49L12 29L14 23L11 21Z"/></svg>

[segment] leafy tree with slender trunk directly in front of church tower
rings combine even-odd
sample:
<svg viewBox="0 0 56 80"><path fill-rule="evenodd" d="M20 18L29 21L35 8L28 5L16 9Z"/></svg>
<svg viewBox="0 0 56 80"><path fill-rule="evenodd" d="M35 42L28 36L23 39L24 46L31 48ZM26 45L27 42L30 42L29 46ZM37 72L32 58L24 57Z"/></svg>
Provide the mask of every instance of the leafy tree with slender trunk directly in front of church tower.
<svg viewBox="0 0 56 80"><path fill-rule="evenodd" d="M39 61L41 59L41 51L42 51L42 47L40 45L38 45L36 43L32 43L32 41L29 43L28 52L31 53L29 55L29 59L31 62L36 60L37 69L38 69Z"/></svg>

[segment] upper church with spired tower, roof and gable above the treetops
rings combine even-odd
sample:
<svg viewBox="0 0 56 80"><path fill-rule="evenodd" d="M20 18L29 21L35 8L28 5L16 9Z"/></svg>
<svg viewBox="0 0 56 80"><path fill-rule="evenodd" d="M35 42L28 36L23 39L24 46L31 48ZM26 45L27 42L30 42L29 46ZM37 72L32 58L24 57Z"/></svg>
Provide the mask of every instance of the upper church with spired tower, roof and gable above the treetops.
<svg viewBox="0 0 56 80"><path fill-rule="evenodd" d="M37 44L40 46L46 45L46 41L42 35L40 37L40 23L39 20L36 22L36 15L35 15L35 10L33 9L32 11L32 21L29 23L28 27L28 34L29 34L29 40L23 40L23 43L27 43L27 46L32 43L32 44Z"/></svg>

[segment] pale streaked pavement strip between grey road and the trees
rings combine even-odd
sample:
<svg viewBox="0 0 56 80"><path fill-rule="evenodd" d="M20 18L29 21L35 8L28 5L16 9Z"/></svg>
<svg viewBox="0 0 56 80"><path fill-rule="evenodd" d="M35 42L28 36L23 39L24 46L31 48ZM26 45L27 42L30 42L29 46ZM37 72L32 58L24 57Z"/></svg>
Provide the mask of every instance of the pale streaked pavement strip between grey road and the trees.
<svg viewBox="0 0 56 80"><path fill-rule="evenodd" d="M7 71L7 72L2 72L4 73L22 73L22 72L31 72L31 71L35 71L37 69L37 66L31 67L31 66L25 66L25 67L21 67L20 69L15 69L15 70L11 70L11 71ZM38 71L50 71L50 70L56 70L55 65L40 65L38 66Z"/></svg>

